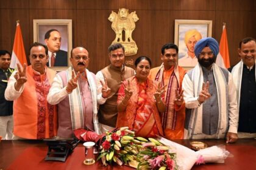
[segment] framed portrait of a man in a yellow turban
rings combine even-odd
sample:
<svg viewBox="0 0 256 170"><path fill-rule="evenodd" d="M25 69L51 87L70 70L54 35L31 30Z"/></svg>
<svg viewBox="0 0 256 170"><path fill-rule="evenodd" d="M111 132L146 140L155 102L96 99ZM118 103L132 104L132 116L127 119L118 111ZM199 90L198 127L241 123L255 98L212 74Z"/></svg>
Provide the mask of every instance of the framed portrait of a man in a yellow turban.
<svg viewBox="0 0 256 170"><path fill-rule="evenodd" d="M200 39L210 36L212 36L212 21L176 19L174 43L179 47L179 66L186 70L196 66L194 46Z"/></svg>

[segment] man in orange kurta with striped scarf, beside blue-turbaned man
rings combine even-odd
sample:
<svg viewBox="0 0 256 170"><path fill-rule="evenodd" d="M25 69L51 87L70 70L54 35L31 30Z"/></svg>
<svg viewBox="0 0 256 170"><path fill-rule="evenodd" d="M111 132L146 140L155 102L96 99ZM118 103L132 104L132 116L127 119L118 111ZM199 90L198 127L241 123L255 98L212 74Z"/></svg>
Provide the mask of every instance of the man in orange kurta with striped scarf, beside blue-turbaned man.
<svg viewBox="0 0 256 170"><path fill-rule="evenodd" d="M185 70L177 66L179 49L175 44L162 47L160 67L151 69L149 78L160 81L165 86L166 110L162 114L162 126L168 139L182 139L185 123L185 103L183 103L182 81ZM166 86L167 85L167 86Z"/></svg>

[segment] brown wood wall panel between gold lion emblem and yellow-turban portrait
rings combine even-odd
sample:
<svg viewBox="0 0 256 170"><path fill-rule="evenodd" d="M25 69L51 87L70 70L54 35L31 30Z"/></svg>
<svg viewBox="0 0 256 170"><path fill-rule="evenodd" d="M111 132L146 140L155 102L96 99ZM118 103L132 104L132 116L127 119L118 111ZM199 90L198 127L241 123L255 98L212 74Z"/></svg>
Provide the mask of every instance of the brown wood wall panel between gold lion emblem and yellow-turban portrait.
<svg viewBox="0 0 256 170"><path fill-rule="evenodd" d="M133 39L137 42L138 53L130 58L135 61L138 56L149 56L152 67L156 67L162 63L162 46L171 41L169 11L138 10L136 13L140 20L137 21Z"/></svg>

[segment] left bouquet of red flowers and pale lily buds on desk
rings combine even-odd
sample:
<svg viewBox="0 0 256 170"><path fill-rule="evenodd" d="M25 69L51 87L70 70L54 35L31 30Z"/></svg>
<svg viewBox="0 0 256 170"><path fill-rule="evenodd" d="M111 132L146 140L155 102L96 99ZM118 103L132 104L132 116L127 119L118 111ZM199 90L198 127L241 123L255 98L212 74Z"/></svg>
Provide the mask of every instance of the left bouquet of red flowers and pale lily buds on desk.
<svg viewBox="0 0 256 170"><path fill-rule="evenodd" d="M137 167L136 155L147 140L135 137L135 132L128 127L120 127L112 132L105 132L102 144L99 148L99 157L103 165L107 166L113 162L118 165L129 164Z"/></svg>

